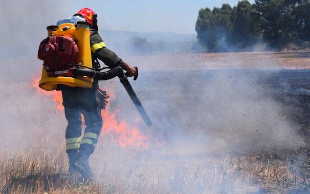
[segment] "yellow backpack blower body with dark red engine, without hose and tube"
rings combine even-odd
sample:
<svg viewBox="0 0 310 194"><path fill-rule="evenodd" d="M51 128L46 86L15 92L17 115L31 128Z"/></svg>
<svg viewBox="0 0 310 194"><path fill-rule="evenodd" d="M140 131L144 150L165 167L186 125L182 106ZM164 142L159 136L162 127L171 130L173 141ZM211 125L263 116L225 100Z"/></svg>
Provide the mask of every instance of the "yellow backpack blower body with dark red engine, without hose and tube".
<svg viewBox="0 0 310 194"><path fill-rule="evenodd" d="M87 24L80 22L77 28L71 23L61 24L52 31L54 36L49 33L50 37L42 40L38 51L38 58L44 61L39 82L41 89L52 91L58 84L92 87L91 77L72 75L75 68L92 69L90 30ZM48 27L48 31L51 31L51 27Z"/></svg>

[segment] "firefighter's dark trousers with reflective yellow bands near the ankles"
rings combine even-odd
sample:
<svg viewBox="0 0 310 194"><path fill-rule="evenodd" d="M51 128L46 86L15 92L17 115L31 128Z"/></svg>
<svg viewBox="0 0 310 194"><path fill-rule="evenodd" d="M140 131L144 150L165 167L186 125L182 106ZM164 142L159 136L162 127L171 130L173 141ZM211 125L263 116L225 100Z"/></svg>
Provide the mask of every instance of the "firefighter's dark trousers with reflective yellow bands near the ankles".
<svg viewBox="0 0 310 194"><path fill-rule="evenodd" d="M64 114L68 120L65 131L67 153L79 150L80 154L90 156L94 152L102 127L98 81L94 82L91 89L65 85L58 88L62 92ZM86 125L83 138L81 114Z"/></svg>

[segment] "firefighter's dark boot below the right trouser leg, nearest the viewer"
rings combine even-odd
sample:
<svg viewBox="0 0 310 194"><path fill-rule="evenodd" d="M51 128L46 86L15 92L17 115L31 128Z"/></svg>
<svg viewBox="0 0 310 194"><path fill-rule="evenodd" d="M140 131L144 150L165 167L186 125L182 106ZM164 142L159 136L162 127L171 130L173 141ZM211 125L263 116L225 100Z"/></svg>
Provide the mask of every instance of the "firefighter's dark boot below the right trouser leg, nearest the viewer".
<svg viewBox="0 0 310 194"><path fill-rule="evenodd" d="M73 169L78 171L85 180L91 180L94 178L94 173L90 167L90 164L88 164L89 157L89 154L80 151L72 165Z"/></svg>

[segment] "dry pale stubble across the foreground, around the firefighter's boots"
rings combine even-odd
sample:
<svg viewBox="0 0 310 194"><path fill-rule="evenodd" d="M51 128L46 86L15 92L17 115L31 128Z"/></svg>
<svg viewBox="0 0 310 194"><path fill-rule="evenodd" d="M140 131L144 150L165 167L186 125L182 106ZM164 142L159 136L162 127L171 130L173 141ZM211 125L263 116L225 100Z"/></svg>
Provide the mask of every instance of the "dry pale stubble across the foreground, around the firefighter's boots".
<svg viewBox="0 0 310 194"><path fill-rule="evenodd" d="M162 148L119 148L103 142L91 158L97 178L67 174L58 149L20 148L0 152L4 193L256 193L304 188L300 166L272 155L212 156L160 154ZM40 142L43 143L43 142ZM165 149L165 148L164 148ZM300 158L298 158L300 160Z"/></svg>

